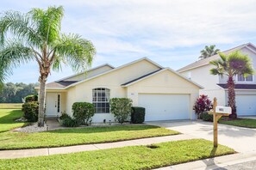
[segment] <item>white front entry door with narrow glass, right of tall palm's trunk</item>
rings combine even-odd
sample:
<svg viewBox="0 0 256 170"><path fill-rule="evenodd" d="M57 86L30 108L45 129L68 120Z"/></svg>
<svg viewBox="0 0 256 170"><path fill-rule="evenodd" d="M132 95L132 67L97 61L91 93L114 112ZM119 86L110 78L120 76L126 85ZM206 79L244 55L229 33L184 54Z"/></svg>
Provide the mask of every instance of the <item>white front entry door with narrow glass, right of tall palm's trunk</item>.
<svg viewBox="0 0 256 170"><path fill-rule="evenodd" d="M46 116L57 117L60 115L60 94L47 93Z"/></svg>

